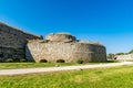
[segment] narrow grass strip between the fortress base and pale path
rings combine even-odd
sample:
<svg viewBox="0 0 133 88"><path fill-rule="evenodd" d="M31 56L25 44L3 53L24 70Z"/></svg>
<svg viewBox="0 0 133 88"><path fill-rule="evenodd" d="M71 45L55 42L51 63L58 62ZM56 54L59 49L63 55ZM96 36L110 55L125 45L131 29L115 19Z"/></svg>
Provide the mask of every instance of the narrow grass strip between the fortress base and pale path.
<svg viewBox="0 0 133 88"><path fill-rule="evenodd" d="M117 61L108 61L105 63L116 63ZM53 67L53 66L72 66L72 65L90 65L90 64L101 64L101 63L0 63L0 69L11 69L11 68L33 68L33 67Z"/></svg>

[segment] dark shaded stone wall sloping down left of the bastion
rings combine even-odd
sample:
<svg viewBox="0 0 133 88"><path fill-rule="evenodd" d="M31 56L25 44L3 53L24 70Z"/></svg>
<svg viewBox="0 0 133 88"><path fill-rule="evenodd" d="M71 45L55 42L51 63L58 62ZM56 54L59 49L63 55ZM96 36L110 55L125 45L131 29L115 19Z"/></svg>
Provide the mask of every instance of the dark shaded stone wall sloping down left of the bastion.
<svg viewBox="0 0 133 88"><path fill-rule="evenodd" d="M0 61L24 58L27 40L33 38L40 37L0 23Z"/></svg>

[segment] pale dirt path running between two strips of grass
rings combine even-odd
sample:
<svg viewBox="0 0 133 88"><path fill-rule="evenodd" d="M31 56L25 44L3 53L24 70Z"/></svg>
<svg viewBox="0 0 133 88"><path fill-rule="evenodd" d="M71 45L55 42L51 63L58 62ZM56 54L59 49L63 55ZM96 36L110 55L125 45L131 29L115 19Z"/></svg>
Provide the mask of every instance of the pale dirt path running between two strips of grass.
<svg viewBox="0 0 133 88"><path fill-rule="evenodd" d="M0 75L19 75L19 74L60 72L60 70L73 70L73 69L80 70L80 69L86 69L86 68L113 67L113 66L131 65L131 64L133 64L133 62L112 63L112 64L96 64L96 65L82 65L82 66L1 69Z"/></svg>

